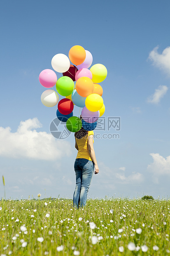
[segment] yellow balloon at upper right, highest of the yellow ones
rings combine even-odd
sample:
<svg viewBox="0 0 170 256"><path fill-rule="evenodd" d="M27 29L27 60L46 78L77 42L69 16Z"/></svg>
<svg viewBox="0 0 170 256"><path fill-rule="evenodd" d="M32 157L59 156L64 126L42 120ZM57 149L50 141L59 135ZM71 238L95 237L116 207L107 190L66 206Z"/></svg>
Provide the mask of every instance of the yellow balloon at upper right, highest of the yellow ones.
<svg viewBox="0 0 170 256"><path fill-rule="evenodd" d="M103 64L95 64L90 69L93 77L93 83L100 83L105 80L107 76L107 69Z"/></svg>

